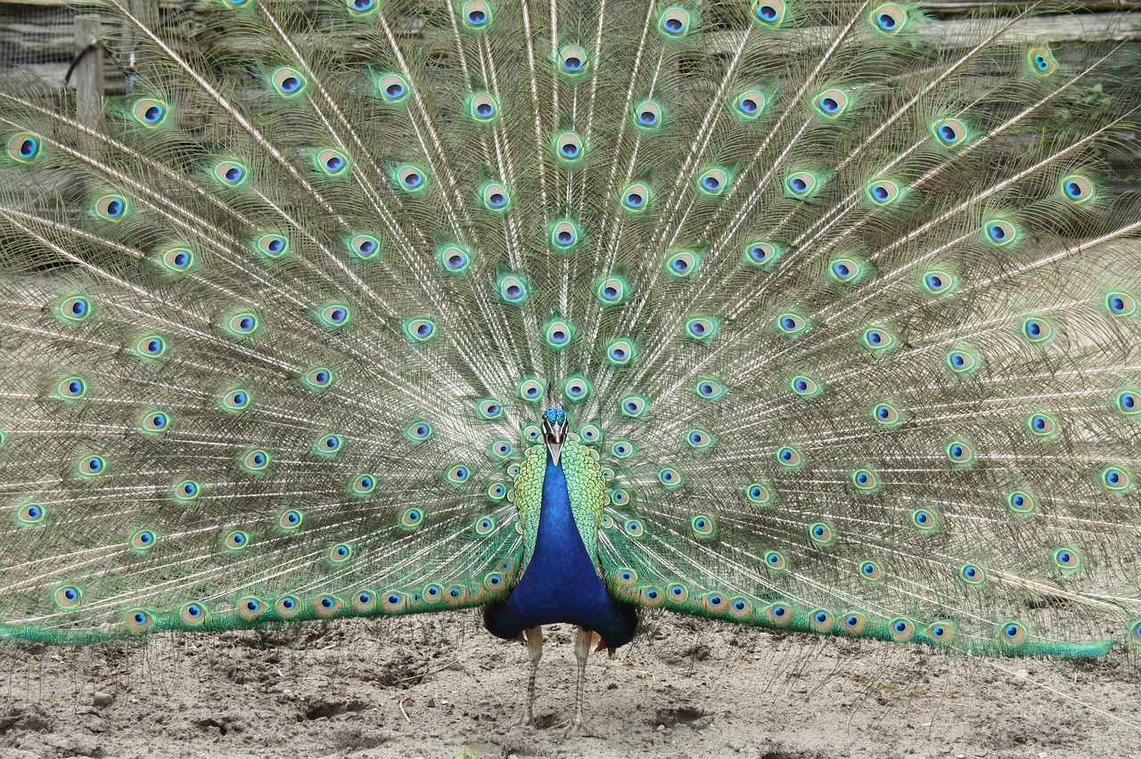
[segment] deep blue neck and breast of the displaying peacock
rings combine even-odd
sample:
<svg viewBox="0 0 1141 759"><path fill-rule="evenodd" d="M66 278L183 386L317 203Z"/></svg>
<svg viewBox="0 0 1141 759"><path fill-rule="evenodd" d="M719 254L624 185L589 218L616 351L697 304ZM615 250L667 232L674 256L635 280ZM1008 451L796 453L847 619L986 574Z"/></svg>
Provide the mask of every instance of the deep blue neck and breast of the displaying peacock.
<svg viewBox="0 0 1141 759"><path fill-rule="evenodd" d="M513 638L528 627L557 622L581 625L616 648L633 638L638 615L606 591L578 536L563 465L548 455L535 553L507 601L485 610L484 626Z"/></svg>

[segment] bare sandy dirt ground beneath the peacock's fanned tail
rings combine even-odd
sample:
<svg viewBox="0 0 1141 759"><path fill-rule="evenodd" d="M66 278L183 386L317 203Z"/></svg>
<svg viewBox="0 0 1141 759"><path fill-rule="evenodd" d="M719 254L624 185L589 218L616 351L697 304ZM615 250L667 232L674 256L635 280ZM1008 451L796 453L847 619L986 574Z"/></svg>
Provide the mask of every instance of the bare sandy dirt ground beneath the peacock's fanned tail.
<svg viewBox="0 0 1141 759"><path fill-rule="evenodd" d="M563 735L568 626L547 628L539 729L513 726L524 647L467 612L0 656L2 757L1141 756L1124 654L979 660L662 617L591 656L581 738Z"/></svg>

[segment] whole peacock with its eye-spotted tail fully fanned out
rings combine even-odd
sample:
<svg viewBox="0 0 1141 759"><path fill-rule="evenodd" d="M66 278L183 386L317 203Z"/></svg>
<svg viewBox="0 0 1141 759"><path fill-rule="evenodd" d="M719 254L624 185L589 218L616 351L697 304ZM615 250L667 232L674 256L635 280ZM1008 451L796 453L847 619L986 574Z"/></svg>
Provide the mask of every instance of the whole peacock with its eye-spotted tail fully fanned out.
<svg viewBox="0 0 1141 759"><path fill-rule="evenodd" d="M121 89L0 91L8 645L480 607L524 725L576 627L577 734L659 613L1141 645L1141 72L1091 16L75 8Z"/></svg>

